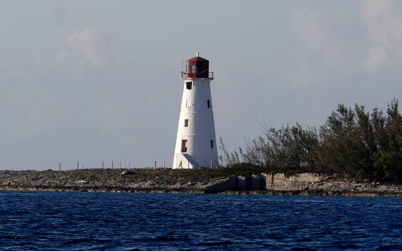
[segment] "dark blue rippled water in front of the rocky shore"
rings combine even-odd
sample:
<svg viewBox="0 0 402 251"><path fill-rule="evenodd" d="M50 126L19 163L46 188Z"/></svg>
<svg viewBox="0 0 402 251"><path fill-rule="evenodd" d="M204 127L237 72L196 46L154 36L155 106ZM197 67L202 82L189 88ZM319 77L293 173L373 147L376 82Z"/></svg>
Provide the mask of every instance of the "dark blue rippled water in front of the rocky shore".
<svg viewBox="0 0 402 251"><path fill-rule="evenodd" d="M0 249L402 249L402 198L0 191Z"/></svg>

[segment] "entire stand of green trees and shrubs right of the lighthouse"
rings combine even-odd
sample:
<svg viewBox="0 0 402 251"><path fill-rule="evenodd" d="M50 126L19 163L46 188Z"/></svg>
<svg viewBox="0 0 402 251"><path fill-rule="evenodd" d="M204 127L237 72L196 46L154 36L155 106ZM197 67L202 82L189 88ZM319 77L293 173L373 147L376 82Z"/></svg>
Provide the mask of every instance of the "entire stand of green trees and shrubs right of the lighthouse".
<svg viewBox="0 0 402 251"><path fill-rule="evenodd" d="M240 163L276 171L336 172L373 181L402 181L402 116L398 100L388 105L386 115L378 108L371 114L364 106L339 104L319 132L298 123L280 129L263 126L258 139L245 139L239 153L224 157L231 167Z"/></svg>

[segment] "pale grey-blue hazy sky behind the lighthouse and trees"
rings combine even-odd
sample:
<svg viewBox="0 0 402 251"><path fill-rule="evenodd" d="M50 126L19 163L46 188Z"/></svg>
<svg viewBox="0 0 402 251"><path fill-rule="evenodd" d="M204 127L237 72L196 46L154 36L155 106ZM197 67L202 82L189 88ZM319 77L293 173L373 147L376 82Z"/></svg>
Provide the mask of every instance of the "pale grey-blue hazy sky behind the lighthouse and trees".
<svg viewBox="0 0 402 251"><path fill-rule="evenodd" d="M171 166L182 59L217 139L402 98L400 1L15 1L0 8L0 170ZM221 154L220 152L218 152Z"/></svg>

